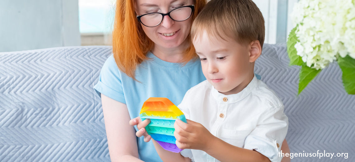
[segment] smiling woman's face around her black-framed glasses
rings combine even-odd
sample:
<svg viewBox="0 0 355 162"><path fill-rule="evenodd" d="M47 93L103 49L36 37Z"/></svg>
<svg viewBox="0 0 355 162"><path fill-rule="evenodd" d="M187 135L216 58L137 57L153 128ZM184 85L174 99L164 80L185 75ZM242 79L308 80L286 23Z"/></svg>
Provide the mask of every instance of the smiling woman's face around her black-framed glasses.
<svg viewBox="0 0 355 162"><path fill-rule="evenodd" d="M193 0L135 0L137 15L151 12L168 13L176 7L193 5ZM190 33L192 15L185 21L174 21L168 15L155 27L142 25L143 31L159 48L184 48ZM170 35L170 36L169 36Z"/></svg>

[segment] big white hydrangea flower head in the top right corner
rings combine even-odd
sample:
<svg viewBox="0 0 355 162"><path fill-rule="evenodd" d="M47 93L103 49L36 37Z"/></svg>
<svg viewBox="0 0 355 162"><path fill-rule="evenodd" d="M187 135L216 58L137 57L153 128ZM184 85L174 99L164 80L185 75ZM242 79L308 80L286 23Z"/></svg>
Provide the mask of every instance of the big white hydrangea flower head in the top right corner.
<svg viewBox="0 0 355 162"><path fill-rule="evenodd" d="M355 2L300 0L291 18L298 25L297 55L307 66L323 69L337 57L355 59Z"/></svg>

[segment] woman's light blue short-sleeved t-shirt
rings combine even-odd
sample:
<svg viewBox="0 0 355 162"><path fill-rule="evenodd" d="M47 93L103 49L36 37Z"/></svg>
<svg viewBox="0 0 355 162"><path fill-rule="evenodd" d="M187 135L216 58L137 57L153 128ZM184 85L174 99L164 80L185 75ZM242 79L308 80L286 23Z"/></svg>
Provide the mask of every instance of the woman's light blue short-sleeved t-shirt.
<svg viewBox="0 0 355 162"><path fill-rule="evenodd" d="M187 90L206 80L199 59L181 67L178 63L163 61L151 52L147 56L152 60L142 62L135 72L136 79L141 83L121 72L113 55L110 55L102 66L98 83L94 86L100 97L100 93L103 93L125 103L131 119L139 116L144 101L149 97L166 97L178 106ZM134 128L138 131L136 126ZM143 139L143 136L137 137L140 159L145 162L162 162L153 142L144 142Z"/></svg>

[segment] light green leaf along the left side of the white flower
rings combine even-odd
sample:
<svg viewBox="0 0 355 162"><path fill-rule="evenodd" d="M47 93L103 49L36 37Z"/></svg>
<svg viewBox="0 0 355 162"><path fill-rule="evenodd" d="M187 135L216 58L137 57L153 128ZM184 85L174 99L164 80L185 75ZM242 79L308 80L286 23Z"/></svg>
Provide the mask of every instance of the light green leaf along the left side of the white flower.
<svg viewBox="0 0 355 162"><path fill-rule="evenodd" d="M295 33L297 27L298 25L291 30L289 37L287 39L287 53L290 58L290 66L291 65L302 66L303 64L302 58L301 56L297 55L297 50L295 48L295 44L297 42L300 42L300 40L298 40Z"/></svg>

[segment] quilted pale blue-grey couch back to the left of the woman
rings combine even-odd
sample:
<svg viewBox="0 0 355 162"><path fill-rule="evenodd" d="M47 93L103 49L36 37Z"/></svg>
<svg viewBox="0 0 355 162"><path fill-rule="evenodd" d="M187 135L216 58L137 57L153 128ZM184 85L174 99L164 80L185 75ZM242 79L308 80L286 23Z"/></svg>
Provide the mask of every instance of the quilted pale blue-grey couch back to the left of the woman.
<svg viewBox="0 0 355 162"><path fill-rule="evenodd" d="M93 90L109 46L0 53L0 161L110 161Z"/></svg>

